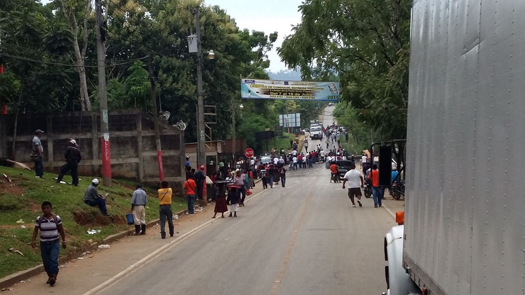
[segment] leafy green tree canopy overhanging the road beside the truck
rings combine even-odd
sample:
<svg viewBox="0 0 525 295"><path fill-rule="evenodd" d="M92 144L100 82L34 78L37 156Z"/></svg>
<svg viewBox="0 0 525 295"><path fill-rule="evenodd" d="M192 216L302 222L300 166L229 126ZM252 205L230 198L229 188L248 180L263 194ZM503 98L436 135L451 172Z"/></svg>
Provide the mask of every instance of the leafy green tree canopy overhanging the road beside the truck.
<svg viewBox="0 0 525 295"><path fill-rule="evenodd" d="M278 49L303 79L338 76L358 124L406 138L409 0L305 0L301 23Z"/></svg>

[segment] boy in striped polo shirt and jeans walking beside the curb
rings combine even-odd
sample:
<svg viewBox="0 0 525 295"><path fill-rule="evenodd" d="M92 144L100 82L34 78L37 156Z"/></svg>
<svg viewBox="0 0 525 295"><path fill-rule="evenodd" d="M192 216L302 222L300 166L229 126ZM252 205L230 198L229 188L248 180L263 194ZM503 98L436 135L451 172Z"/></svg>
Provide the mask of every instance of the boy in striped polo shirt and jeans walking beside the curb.
<svg viewBox="0 0 525 295"><path fill-rule="evenodd" d="M42 203L42 214L35 220L35 230L33 231L33 240L31 246L36 248L36 237L40 230L40 255L44 263L44 269L47 272L47 282L50 286L55 285L58 275L58 254L60 244L58 234L62 237L62 248L66 249L66 234L62 227L60 216L53 214L51 202Z"/></svg>

